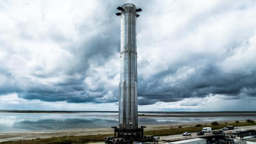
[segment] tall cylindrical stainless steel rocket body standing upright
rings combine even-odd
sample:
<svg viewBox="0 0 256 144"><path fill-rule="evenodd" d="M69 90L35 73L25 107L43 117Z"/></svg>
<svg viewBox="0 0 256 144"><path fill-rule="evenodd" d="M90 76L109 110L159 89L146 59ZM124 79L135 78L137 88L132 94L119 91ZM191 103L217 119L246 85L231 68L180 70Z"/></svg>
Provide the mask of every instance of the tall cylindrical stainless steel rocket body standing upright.
<svg viewBox="0 0 256 144"><path fill-rule="evenodd" d="M122 5L119 128L138 128L136 6Z"/></svg>

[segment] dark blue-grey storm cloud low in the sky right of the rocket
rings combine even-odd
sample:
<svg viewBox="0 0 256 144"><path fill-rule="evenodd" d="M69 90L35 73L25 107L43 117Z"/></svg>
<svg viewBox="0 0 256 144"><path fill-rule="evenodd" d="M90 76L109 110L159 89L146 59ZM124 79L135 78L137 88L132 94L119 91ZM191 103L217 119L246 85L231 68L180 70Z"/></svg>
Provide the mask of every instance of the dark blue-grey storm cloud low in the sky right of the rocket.
<svg viewBox="0 0 256 144"><path fill-rule="evenodd" d="M197 68L189 78L180 81L175 86L172 86L171 82L163 82L163 79L168 75L172 75L172 72L156 75L145 82L142 80L139 83L138 92L143 100L139 101L139 104L154 104L157 101L174 102L182 98L205 97L209 94L238 96L244 93L249 96L256 96L255 74L247 76L225 74L217 66L205 64L205 66ZM230 99L234 98L230 97Z"/></svg>

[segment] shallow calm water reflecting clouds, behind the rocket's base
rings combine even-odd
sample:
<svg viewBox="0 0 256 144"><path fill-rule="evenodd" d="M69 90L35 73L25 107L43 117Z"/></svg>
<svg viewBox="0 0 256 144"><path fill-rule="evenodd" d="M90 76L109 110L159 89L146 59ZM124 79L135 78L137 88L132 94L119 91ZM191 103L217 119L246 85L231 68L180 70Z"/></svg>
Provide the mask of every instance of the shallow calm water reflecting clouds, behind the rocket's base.
<svg viewBox="0 0 256 144"><path fill-rule="evenodd" d="M256 119L256 116L210 116L214 113L139 113L139 125L184 124ZM161 116L162 115L162 116ZM170 115L172 117L164 117ZM200 116L195 116L200 115ZM202 116L201 116L202 115ZM221 114L222 115L222 114ZM234 115L234 114L232 114ZM239 115L239 114L238 114ZM109 128L118 125L117 112L14 113L0 112L0 132L65 130L70 128Z"/></svg>

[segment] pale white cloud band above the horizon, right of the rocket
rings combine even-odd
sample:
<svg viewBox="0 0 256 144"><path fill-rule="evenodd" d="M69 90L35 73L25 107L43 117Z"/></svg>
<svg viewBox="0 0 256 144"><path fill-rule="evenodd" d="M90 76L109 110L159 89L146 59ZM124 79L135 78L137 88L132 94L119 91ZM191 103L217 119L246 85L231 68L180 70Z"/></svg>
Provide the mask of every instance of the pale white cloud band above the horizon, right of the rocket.
<svg viewBox="0 0 256 144"><path fill-rule="evenodd" d="M184 98L178 102L156 102L140 106L140 111L253 111L256 98L210 94L204 98ZM154 108L154 109L152 109Z"/></svg>

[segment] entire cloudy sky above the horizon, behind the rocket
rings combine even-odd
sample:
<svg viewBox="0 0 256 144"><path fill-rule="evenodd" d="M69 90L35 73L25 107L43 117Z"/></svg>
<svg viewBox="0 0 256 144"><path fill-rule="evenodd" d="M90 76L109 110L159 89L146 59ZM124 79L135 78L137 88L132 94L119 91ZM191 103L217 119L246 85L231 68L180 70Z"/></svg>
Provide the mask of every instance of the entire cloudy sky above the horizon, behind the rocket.
<svg viewBox="0 0 256 144"><path fill-rule="evenodd" d="M256 110L255 0L1 0L1 110L118 110L120 17L139 111Z"/></svg>

